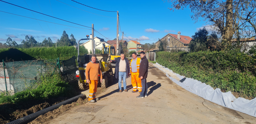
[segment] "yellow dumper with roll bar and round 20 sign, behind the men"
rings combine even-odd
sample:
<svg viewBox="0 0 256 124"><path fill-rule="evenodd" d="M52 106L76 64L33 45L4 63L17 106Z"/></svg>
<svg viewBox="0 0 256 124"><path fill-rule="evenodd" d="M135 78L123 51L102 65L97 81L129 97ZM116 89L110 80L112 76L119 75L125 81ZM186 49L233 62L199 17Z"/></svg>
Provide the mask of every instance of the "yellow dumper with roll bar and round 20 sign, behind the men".
<svg viewBox="0 0 256 124"><path fill-rule="evenodd" d="M81 40L92 40L95 44L94 39L88 38L89 35L86 35L87 39L80 39L78 41L78 44ZM104 39L100 40L101 42L104 41ZM85 70L86 65L91 61L92 54L87 55L79 55L79 47L78 48L78 56L77 56L77 62L78 62L78 70L76 71L76 77L78 79L78 85L80 89L85 89L88 85L86 83L86 77L85 77ZM95 53L95 45L94 45L94 53ZM108 82L113 81L113 71L112 66L110 63L110 54L95 54L97 56L97 62L100 63L100 68L102 71L102 82L100 82L100 74L98 79L98 85L101 85L102 88L108 87Z"/></svg>

